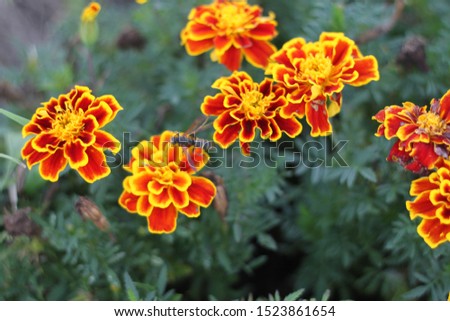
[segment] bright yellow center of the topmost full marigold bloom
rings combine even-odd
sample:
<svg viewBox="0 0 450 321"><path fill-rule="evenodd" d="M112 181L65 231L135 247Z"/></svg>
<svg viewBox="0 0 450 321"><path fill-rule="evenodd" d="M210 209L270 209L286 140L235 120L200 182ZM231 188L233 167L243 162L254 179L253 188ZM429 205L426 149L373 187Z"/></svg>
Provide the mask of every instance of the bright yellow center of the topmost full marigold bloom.
<svg viewBox="0 0 450 321"><path fill-rule="evenodd" d="M249 25L251 16L244 10L244 5L246 5L245 2L243 2L243 4L223 4L219 10L219 22L217 24L219 33L223 32L224 35L229 36L253 28L252 25Z"/></svg>

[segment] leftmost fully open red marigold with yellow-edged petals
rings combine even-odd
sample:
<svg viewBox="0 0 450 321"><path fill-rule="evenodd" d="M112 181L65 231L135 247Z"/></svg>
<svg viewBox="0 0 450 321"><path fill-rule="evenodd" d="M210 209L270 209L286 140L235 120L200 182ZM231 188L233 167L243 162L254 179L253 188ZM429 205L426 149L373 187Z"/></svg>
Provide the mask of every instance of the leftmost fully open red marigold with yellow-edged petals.
<svg viewBox="0 0 450 321"><path fill-rule="evenodd" d="M28 168L40 163L41 176L52 182L67 164L88 183L109 175L103 150L116 153L120 142L100 128L121 109L113 96L96 98L84 86L43 103L22 129L24 137L36 135L22 148Z"/></svg>

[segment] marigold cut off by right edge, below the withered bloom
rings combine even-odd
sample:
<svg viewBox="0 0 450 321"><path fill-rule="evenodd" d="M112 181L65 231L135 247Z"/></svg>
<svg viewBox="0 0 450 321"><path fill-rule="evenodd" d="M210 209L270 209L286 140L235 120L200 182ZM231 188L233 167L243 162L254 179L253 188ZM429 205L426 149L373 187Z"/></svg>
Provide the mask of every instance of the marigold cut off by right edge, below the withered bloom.
<svg viewBox="0 0 450 321"><path fill-rule="evenodd" d="M406 208L411 219L422 218L417 232L431 247L450 241L450 161L440 159L438 169L411 183Z"/></svg>

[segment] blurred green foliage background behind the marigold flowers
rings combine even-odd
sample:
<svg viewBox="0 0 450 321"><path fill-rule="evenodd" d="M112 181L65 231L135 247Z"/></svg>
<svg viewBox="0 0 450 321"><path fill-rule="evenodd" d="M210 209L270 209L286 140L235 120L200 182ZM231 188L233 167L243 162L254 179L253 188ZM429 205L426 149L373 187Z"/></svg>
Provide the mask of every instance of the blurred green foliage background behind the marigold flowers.
<svg viewBox="0 0 450 321"><path fill-rule="evenodd" d="M209 2L99 2L100 37L87 49L78 29L88 1L0 0L1 108L29 118L75 84L124 107L107 127L124 137L122 151L108 156L112 174L92 185L72 171L51 184L37 168L0 158L0 299L264 299L298 289L304 298L329 290L332 300L447 298L450 244L432 250L416 233L405 208L415 177L385 161L392 142L374 136L371 117L404 101L428 104L450 88L449 1L249 0L276 14L278 48L343 31L377 57L380 81L344 89L332 136L313 139L305 124L300 137L285 139L289 148L266 142L250 160L224 152L226 166L207 170L223 179L225 217L213 207L199 219L180 215L171 235L149 234L143 217L119 207L121 165L138 141L186 130L215 94L213 81L230 74L180 45L190 9ZM242 69L264 78L246 62ZM311 168L306 154L299 162L311 141L324 148L310 159L328 160L346 142L338 154L348 166ZM21 128L0 117L0 153L19 159L23 143ZM98 205L109 231L80 217L80 195Z"/></svg>

